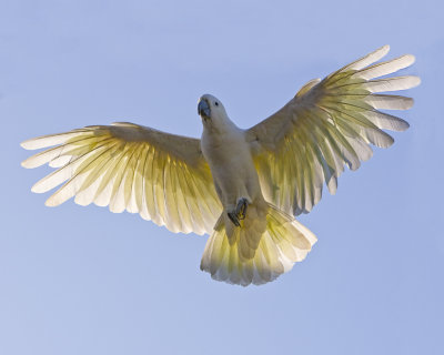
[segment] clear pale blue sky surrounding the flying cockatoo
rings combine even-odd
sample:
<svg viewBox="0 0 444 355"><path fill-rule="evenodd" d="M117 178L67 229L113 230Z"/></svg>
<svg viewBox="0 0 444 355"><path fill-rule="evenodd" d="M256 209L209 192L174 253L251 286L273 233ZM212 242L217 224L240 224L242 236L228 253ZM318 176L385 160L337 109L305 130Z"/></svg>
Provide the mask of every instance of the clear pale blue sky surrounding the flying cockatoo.
<svg viewBox="0 0 444 355"><path fill-rule="evenodd" d="M0 1L0 354L444 354L442 1ZM43 205L19 143L132 121L242 128L383 45L414 53L411 129L300 220L309 257L264 286L199 270L206 236Z"/></svg>

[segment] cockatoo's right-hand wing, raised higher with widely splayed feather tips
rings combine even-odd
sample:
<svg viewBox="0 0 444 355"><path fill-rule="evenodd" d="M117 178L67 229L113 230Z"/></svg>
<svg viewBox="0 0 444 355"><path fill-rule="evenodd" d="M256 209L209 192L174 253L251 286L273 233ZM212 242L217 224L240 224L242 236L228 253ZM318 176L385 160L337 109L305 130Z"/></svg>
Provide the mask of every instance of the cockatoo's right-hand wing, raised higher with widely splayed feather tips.
<svg viewBox="0 0 444 355"><path fill-rule="evenodd" d="M324 80L312 80L276 113L246 131L265 199L287 213L307 213L326 183L334 194L344 165L360 168L373 151L394 140L383 130L404 131L408 123L382 110L406 110L410 98L379 94L420 83L417 77L375 79L414 62L411 54L379 62L379 50Z"/></svg>

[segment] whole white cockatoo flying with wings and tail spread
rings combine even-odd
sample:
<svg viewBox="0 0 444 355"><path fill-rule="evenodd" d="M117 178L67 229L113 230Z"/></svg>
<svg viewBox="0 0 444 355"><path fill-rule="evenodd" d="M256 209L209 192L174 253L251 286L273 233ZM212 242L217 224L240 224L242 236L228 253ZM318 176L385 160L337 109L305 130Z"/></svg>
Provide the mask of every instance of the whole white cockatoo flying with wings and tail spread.
<svg viewBox="0 0 444 355"><path fill-rule="evenodd" d="M201 270L219 281L263 284L290 271L316 237L293 215L310 212L323 184L334 194L344 165L356 170L387 148L383 130L407 122L379 111L413 100L379 92L411 89L417 77L375 79L411 65L411 54L377 62L389 45L311 80L276 113L238 128L216 98L200 98L201 140L133 123L92 125L21 143L47 149L22 162L57 168L33 192L64 184L47 201L127 210L172 232L210 234ZM377 63L375 63L377 62Z"/></svg>

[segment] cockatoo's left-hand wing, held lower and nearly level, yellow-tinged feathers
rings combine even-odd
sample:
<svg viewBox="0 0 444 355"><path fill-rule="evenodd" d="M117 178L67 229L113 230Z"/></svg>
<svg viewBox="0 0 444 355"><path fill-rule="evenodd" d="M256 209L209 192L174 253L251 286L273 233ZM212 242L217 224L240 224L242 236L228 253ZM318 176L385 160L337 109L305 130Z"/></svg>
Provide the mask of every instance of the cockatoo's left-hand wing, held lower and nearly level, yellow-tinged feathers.
<svg viewBox="0 0 444 355"><path fill-rule="evenodd" d="M50 148L22 162L49 163L57 171L32 186L47 192L65 182L47 201L110 206L140 213L172 232L211 233L222 206L200 141L132 123L93 125L28 140L21 145ZM54 146L56 145L56 146Z"/></svg>

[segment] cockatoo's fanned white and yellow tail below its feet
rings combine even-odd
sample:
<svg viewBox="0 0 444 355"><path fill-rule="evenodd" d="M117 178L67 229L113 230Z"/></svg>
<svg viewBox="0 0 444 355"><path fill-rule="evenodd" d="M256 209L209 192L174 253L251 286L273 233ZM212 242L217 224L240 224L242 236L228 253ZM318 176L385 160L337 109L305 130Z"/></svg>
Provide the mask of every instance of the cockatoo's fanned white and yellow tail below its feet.
<svg viewBox="0 0 444 355"><path fill-rule="evenodd" d="M315 235L286 213L268 205L262 232L250 217L241 227L225 229L224 214L206 242L201 270L218 281L248 286L264 284L305 258ZM261 220L259 220L260 222ZM249 224L250 223L250 224ZM254 227L254 224L256 227Z"/></svg>

